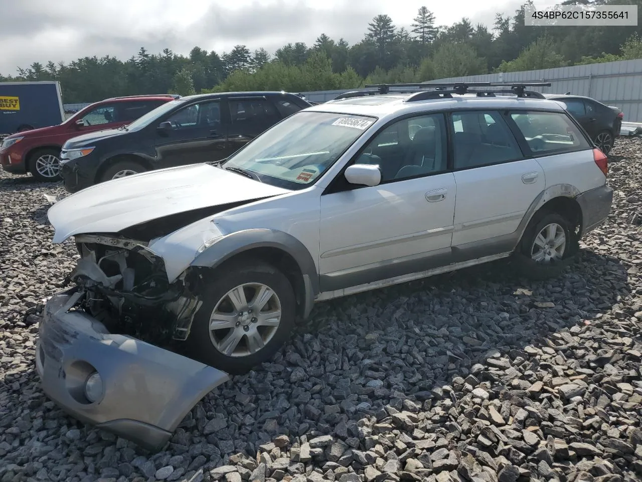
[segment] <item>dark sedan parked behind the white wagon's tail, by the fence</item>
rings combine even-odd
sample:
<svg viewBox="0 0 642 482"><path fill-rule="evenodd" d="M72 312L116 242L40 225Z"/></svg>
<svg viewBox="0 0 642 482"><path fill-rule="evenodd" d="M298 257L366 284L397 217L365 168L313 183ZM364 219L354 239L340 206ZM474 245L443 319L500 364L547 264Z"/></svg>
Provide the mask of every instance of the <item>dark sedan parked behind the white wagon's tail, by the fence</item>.
<svg viewBox="0 0 642 482"><path fill-rule="evenodd" d="M623 112L618 107L604 105L590 97L570 94L544 94L550 100L566 105L566 110L582 125L595 145L609 154L620 136Z"/></svg>

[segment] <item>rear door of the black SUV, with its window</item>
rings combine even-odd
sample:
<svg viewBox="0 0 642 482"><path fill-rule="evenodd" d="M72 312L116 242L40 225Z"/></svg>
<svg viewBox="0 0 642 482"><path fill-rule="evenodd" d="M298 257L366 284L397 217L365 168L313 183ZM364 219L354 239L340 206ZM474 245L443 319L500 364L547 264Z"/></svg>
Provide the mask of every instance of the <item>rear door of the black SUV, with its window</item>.
<svg viewBox="0 0 642 482"><path fill-rule="evenodd" d="M263 96L230 97L227 105L230 125L225 157L234 154L282 118L275 105Z"/></svg>

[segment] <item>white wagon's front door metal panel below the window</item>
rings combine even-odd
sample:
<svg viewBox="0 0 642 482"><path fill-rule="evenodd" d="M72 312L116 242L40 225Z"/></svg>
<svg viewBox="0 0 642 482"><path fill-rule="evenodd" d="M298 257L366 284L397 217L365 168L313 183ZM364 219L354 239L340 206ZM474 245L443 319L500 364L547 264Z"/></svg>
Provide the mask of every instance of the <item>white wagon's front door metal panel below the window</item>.
<svg viewBox="0 0 642 482"><path fill-rule="evenodd" d="M323 195L319 274L450 247L455 191L447 173Z"/></svg>

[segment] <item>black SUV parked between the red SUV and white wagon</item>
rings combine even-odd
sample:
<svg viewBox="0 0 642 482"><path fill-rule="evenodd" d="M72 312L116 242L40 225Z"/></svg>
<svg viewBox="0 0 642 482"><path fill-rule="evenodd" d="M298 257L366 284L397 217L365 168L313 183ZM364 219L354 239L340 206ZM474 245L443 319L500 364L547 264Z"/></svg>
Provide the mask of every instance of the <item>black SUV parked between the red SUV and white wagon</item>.
<svg viewBox="0 0 642 482"><path fill-rule="evenodd" d="M60 175L74 193L125 175L220 161L306 107L306 100L284 92L182 97L119 129L69 139L60 153Z"/></svg>

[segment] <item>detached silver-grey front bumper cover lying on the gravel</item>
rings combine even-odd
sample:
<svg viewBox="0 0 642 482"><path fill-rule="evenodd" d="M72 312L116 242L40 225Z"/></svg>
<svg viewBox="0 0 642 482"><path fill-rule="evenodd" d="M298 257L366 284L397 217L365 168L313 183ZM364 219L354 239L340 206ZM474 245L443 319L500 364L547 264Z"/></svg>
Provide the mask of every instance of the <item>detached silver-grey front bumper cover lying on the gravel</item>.
<svg viewBox="0 0 642 482"><path fill-rule="evenodd" d="M107 328L70 311L80 294L60 292L46 303L36 368L44 392L70 415L157 451L187 413L229 375ZM91 402L87 379L92 377Z"/></svg>

